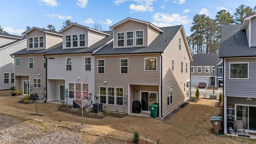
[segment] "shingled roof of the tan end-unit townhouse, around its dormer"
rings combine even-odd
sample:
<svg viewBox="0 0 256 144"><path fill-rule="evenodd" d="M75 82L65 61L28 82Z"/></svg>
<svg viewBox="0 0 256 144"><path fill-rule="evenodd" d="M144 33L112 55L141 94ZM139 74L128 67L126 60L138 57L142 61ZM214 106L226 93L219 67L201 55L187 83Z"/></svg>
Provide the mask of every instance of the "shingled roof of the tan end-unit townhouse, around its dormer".
<svg viewBox="0 0 256 144"><path fill-rule="evenodd" d="M160 28L163 33L159 34L156 39L149 45L145 47L138 48L113 48L113 42L110 42L93 55L110 55L110 54L139 54L139 53L157 53L164 52L167 48L168 44L172 41L174 36L177 34L178 30L180 30L180 26L169 26ZM166 38L168 41L166 41Z"/></svg>

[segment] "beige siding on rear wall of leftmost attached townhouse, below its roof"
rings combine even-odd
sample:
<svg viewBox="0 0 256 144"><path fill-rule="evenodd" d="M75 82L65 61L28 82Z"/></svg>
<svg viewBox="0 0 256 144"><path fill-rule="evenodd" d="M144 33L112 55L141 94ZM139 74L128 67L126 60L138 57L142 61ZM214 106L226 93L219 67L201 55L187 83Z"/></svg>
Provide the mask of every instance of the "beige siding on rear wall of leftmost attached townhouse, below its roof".
<svg viewBox="0 0 256 144"><path fill-rule="evenodd" d="M42 88L46 88L46 69L43 68L43 55L18 55L15 57L21 58L21 66L15 67L15 76L30 76L30 84L32 84L32 86L34 78L41 79L41 88L32 88L32 93L40 92L40 96L42 96ZM34 58L34 68L28 68L30 57ZM40 74L40 76L38 74ZM44 90L44 92L46 92L46 90Z"/></svg>

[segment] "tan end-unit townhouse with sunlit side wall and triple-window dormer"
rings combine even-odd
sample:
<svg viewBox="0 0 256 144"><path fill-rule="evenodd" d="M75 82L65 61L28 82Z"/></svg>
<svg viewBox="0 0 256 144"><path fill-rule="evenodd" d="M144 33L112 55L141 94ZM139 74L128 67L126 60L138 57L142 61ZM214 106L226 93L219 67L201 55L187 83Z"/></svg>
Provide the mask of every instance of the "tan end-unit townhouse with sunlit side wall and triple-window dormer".
<svg viewBox="0 0 256 144"><path fill-rule="evenodd" d="M189 98L192 56L182 25L158 28L126 18L110 29L113 41L92 54L95 102L103 110L130 114L139 101L150 115L150 104L159 103L164 117Z"/></svg>

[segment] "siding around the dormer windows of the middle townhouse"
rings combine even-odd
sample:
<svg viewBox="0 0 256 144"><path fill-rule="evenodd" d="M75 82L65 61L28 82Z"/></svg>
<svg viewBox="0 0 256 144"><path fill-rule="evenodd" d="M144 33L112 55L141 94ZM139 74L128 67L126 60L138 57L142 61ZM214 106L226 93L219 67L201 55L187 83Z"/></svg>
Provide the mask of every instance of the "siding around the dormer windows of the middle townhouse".
<svg viewBox="0 0 256 144"><path fill-rule="evenodd" d="M74 47L74 48L80 47L79 46L79 34L84 34L84 36L85 36L85 46L82 46L82 47L83 48L88 47L88 30L86 30L85 28L82 28L80 26L71 26L70 28L68 28L67 30L65 30L63 32L63 48L64 49L66 48L66 36L70 36L71 43L72 43L72 35L75 35L75 34L78 35L78 46ZM71 44L71 47L68 47L68 48L73 48L72 44Z"/></svg>

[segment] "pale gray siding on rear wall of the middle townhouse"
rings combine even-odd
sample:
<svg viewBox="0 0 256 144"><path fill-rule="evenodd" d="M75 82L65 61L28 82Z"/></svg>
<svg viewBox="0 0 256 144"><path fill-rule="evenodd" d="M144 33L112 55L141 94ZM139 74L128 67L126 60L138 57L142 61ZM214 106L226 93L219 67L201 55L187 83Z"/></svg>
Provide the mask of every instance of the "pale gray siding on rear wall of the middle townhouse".
<svg viewBox="0 0 256 144"><path fill-rule="evenodd" d="M88 83L88 92L92 93L91 100L94 102L94 57L91 54L63 54L47 57L55 57L55 59L47 59L47 78L50 82L48 88L59 88L54 80L65 80L65 89L68 89L69 83ZM85 71L85 57L91 57L91 71ZM66 58L72 58L71 71L66 71ZM56 98L56 92L48 94L48 97ZM73 99L68 98L67 101L72 102Z"/></svg>

